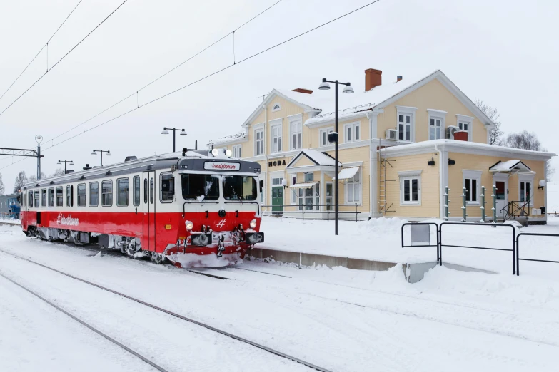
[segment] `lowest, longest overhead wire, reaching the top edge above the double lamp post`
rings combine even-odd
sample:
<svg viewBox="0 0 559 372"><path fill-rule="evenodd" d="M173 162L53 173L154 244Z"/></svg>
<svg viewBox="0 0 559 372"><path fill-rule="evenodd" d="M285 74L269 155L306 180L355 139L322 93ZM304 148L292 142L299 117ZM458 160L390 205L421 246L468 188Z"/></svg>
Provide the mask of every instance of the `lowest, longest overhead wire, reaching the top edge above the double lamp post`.
<svg viewBox="0 0 559 372"><path fill-rule="evenodd" d="M343 14L343 15L341 15L341 16L338 16L338 17L336 17L335 19L331 19L330 21L327 21L327 22L325 22L325 23L323 23L323 24L320 24L320 25L318 25L318 26L316 26L316 27L313 27L312 29L309 29L309 30L307 30L307 31L304 31L304 32L302 32L302 33L299 33L299 34L296 35L296 36L293 36L293 37L291 37L291 38L288 38L288 39L286 39L285 41L281 41L280 43L277 43L277 44L275 44L275 45L273 45L273 46L271 46L271 47L269 47L269 48L263 49L262 51L259 51L259 52L257 52L257 53L252 54L251 56L248 56L248 57L246 57L246 58L243 58L243 59L241 59L240 61L237 61L236 63L231 63L230 65L228 65L228 66L226 66L226 67L220 68L219 70L214 71L213 73L210 73L210 74L208 74L208 75L206 75L206 76L203 76L202 78L197 79L196 81L192 81L191 83L186 84L186 86L182 86L181 88L177 88L177 89L175 89L174 91L171 91L171 92L169 92L169 93L163 94L163 95L159 96L158 98L154 98L153 100L148 101L147 103L143 103L143 105L139 105L139 107L136 107L136 108L133 108L133 109L131 109L131 110L128 110L128 111L126 111L125 113L122 113L122 114L120 114L120 115L117 115L117 116L115 116L114 118L111 118L111 119L109 119L109 120L106 120L106 121L104 121L103 123L99 123L98 125L95 125L94 127L91 127L91 128L89 128L89 129L87 129L87 130L84 130L84 131L81 132L81 133L78 133L78 134L76 134L76 135L73 135L73 136L70 137L70 138L66 138L65 140L62 140L62 141L59 142L59 143L53 144L53 145L51 145L49 148L46 148L46 149L44 149L44 150L41 150L41 152L50 150L51 148L54 148L54 147L56 147L57 145L61 145L62 143L65 143L66 141L69 141L69 140L72 140L72 139L74 139L74 138L76 138L76 137L79 137L80 135L83 135L84 133L87 133L87 132L89 132L90 130L94 130L94 129L96 129L96 128L99 128L99 127L101 127L101 126L103 126L103 125L105 125L105 124L107 124L107 123L111 123L113 120L116 120L116 119L118 119L118 118L121 118L121 117L123 117L124 115L128 115L129 113L133 113L134 111L139 110L140 108L143 108L143 107L145 107L145 106L147 106L147 105L151 105L151 103L155 103L155 102L157 102L158 100L161 100L161 99L167 97L168 95L172 95L172 94L174 94L174 93L177 93L178 91L182 91L184 88L188 88L189 86L193 86L193 85L196 84L196 83L200 83L201 81L204 81L204 80L206 80L207 78L211 78L211 76L214 76L214 75L216 75L216 74L218 74L218 73L222 73L223 71L226 71L226 70L228 70L229 68L231 68L231 67L233 67L233 66L238 66L239 64L241 64L241 63L243 63L243 62L246 62L246 61L250 60L251 58L254 58L254 57L256 57L256 56L260 56L261 54L266 53L267 51L271 51L273 48L277 48L278 46L282 46L283 44L288 43L289 41L293 41L293 40L295 40L296 38L299 38L299 37L301 37L301 36L304 36L304 35L306 35L307 33L310 33L310 32L312 32L312 31L316 31L317 29L321 29L323 26L326 26L326 25L328 25L328 24L331 24L332 22L338 21L339 19L342 19L342 18L344 18L344 17L346 17L346 16L349 16L350 14L356 13L356 11L360 11L360 10L362 10L362 9L365 9L367 6L371 6L371 5L373 5L373 4L378 3L378 1L381 1L381 0L374 0L374 1L371 1L371 2L369 2L368 4L365 4L365 5L363 5L363 6L358 7L357 9L353 9L353 11L349 11L348 13ZM136 92L132 93L132 95L134 95L134 94L136 94ZM130 96L131 96L131 95L129 95L129 97L130 97ZM126 99L126 98L125 98L125 99ZM80 125L81 125L81 124L80 124ZM19 161L23 161L23 160L19 160ZM15 164L15 163L14 163L14 164ZM9 167L9 166L10 166L10 165L6 165L6 167ZM4 168L5 168L5 167L1 167L0 170L2 170L2 169L4 169Z"/></svg>

